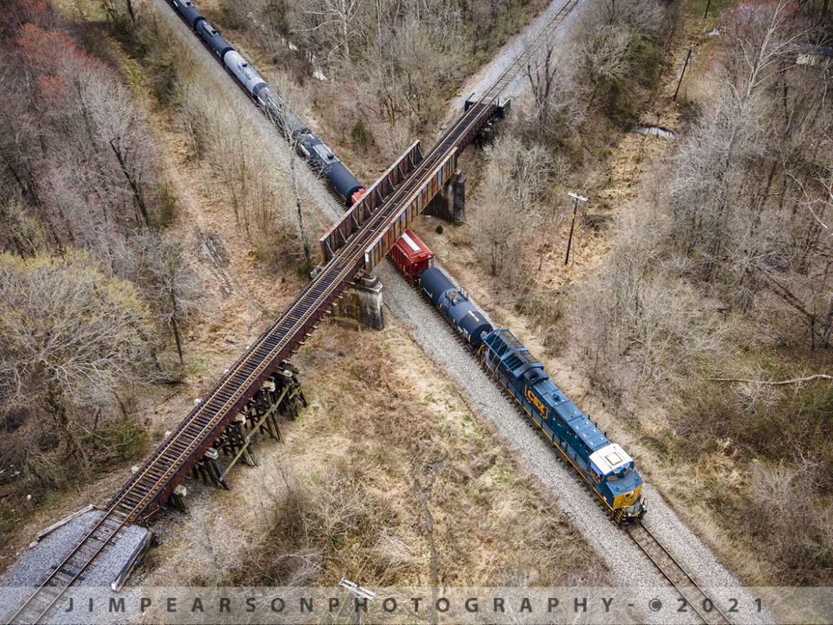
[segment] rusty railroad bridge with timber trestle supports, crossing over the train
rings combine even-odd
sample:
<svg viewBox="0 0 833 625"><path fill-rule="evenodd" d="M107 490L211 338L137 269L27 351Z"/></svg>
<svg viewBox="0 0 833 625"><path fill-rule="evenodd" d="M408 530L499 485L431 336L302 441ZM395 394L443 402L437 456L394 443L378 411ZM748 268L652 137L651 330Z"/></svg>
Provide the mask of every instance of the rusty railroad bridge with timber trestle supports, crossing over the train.
<svg viewBox="0 0 833 625"><path fill-rule="evenodd" d="M549 40L576 6L568 0L477 102L472 102L426 154L418 142L367 190L320 240L322 267L297 298L252 343L176 430L107 504L100 520L72 552L48 572L11 622L35 623L57 607L69 587L84 577L122 527L144 524L171 498L181 501L182 481L197 476L225 487L238 460L254 463L258 434L280 438L277 414L294 416L305 403L292 355L332 314L361 273L370 273L435 197L456 169L456 159L501 106L501 92ZM216 450L216 451L215 451ZM225 468L217 452L231 458ZM177 491L177 488L179 490Z"/></svg>

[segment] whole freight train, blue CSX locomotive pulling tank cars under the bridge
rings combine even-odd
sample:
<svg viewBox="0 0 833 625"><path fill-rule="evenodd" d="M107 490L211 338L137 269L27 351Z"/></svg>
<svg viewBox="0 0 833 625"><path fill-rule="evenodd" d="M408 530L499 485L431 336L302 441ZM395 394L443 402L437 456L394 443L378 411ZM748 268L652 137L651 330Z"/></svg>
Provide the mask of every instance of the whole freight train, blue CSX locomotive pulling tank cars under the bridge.
<svg viewBox="0 0 833 625"><path fill-rule="evenodd" d="M282 98L272 92L257 69L222 37L190 0L169 0L179 16L202 42L217 54L222 66L237 80L258 107L279 130L293 139L298 153L327 178L331 187L352 206L365 188ZM485 316L469 302L437 268L433 254L408 230L391 257L413 283L431 300L476 354L480 363L506 388L530 418L531 423L551 441L576 472L601 499L617 523L634 522L645 513L642 479L633 459L601 433L576 408L544 372L534 358L506 328L494 329Z"/></svg>

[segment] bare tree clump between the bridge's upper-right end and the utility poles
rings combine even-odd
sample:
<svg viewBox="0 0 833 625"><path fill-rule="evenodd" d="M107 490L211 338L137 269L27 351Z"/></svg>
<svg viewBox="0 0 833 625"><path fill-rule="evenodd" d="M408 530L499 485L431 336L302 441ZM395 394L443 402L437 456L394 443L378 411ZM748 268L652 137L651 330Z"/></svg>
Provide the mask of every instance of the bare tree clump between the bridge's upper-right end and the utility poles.
<svg viewBox="0 0 833 625"><path fill-rule="evenodd" d="M487 149L467 217L501 288L529 293L542 270L560 264L551 249L567 224L566 192L601 183L596 153L604 157L616 130L636 122L651 97L659 50L669 45L663 28L674 18L652 2L603 3L581 16L557 52L549 47L526 67L531 92Z"/></svg>

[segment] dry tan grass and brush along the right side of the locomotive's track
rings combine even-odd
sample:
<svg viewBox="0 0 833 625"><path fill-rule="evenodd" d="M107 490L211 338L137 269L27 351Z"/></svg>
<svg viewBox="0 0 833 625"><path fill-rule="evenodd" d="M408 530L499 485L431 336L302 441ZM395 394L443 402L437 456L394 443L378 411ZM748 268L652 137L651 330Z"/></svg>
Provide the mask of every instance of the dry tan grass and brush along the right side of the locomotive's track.
<svg viewBox="0 0 833 625"><path fill-rule="evenodd" d="M668 84L673 92L676 85ZM696 91L696 82L690 88ZM645 121L679 129L682 112L662 107ZM657 168L673 145L636 134L617 138L604 163L596 164L599 172L587 174L597 182L588 193L589 210L615 218L614 226L633 221L637 207L633 200L652 198L658 186L646 184L646 174ZM473 179L469 176L470 183ZM469 197L476 193L472 187L467 190ZM569 208L565 203L564 210ZM493 321L512 328L542 358L566 394L635 456L646 481L721 562L756 585L829 582L831 487L829 472L819 470L830 463L826 449L830 422L822 418L829 415L830 400L824 396L829 398L830 393L824 384L793 396L791 388L761 391L704 383L703 373L698 372L691 377L698 382L686 393L671 393L667 384L657 384L653 396L636 397L629 388L625 403L611 402L605 389L594 386L591 379L594 364L586 346L592 341L576 328L566 331L559 322L566 319L575 327L588 322L586 311L565 307L563 302L571 299L574 287L596 279L610 252L611 231L577 228L576 263L566 268L566 232L557 233L541 273L530 286L519 289L484 271L466 227L444 225L444 233L436 235L435 223L425 220L416 228L437 258ZM533 257L537 261L539 249L534 243L527 249L527 262ZM723 323L728 327L726 320ZM770 362L764 367L765 377L791 378L796 371L816 373L829 367L830 357L824 354L808 358L806 353L794 353L795 358L785 360L784 346L773 344L775 333L765 323L753 321L730 329L744 337L743 349L731 359L711 354L711 375L748 371L752 373L741 377L755 378L756 372L762 373L761 352ZM827 408L813 408L822 404Z"/></svg>

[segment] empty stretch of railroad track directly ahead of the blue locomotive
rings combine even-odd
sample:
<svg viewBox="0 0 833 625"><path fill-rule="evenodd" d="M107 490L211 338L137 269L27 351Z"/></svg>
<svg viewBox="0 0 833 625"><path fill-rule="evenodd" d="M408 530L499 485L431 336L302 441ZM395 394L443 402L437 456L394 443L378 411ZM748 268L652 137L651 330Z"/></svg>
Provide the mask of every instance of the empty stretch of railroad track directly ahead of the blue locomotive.
<svg viewBox="0 0 833 625"><path fill-rule="evenodd" d="M695 617L706 625L731 625L729 617L657 540L651 530L642 523L635 523L626 527L625 531L668 582L671 582L671 586L675 587L685 599Z"/></svg>

